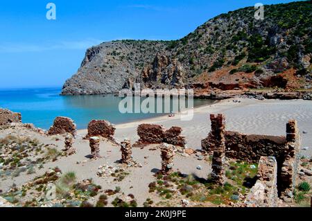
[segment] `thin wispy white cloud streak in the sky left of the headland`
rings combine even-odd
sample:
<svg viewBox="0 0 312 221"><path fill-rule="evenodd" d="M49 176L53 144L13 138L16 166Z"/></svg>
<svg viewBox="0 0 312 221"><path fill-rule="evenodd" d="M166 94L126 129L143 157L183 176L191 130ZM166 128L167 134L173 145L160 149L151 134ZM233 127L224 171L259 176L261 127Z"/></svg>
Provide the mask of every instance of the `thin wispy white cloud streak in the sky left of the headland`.
<svg viewBox="0 0 312 221"><path fill-rule="evenodd" d="M101 44L98 39L85 39L81 41L64 41L55 44L26 44L7 42L0 44L0 53L25 53L51 51L55 49L81 50Z"/></svg>

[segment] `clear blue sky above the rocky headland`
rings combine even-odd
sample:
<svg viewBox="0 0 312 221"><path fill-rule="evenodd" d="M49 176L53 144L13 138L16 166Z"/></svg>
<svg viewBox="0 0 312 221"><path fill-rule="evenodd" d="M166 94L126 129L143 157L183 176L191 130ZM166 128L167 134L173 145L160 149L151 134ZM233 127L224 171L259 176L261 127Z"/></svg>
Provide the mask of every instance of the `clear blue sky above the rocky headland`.
<svg viewBox="0 0 312 221"><path fill-rule="evenodd" d="M56 20L46 19L49 2L55 3ZM0 1L0 88L62 86L92 45L179 39L216 15L257 2L291 1Z"/></svg>

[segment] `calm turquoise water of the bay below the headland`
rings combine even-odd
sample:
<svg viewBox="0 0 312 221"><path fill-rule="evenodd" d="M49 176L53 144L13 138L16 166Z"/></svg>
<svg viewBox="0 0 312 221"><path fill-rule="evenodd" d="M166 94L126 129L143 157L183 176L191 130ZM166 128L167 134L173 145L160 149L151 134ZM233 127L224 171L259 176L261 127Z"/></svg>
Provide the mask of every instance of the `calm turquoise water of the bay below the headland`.
<svg viewBox="0 0 312 221"><path fill-rule="evenodd" d="M107 96L59 96L60 88L0 89L0 107L20 112L23 123L49 129L56 116L73 119L78 129L87 127L92 119L105 119L114 124L126 123L161 114L121 114L122 98ZM213 103L211 100L194 100L194 106Z"/></svg>

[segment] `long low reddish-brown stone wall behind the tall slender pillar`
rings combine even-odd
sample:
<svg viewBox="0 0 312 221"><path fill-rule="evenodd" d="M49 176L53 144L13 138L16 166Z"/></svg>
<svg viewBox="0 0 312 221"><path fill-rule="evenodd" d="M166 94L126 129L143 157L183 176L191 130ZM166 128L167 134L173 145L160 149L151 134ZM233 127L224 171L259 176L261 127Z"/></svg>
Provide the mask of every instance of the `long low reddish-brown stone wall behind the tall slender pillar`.
<svg viewBox="0 0 312 221"><path fill-rule="evenodd" d="M202 149L211 153L213 136L209 133L202 140ZM257 163L260 157L284 157L286 138L284 136L267 136L256 134L241 134L239 132L225 132L225 154L232 159L241 159Z"/></svg>

